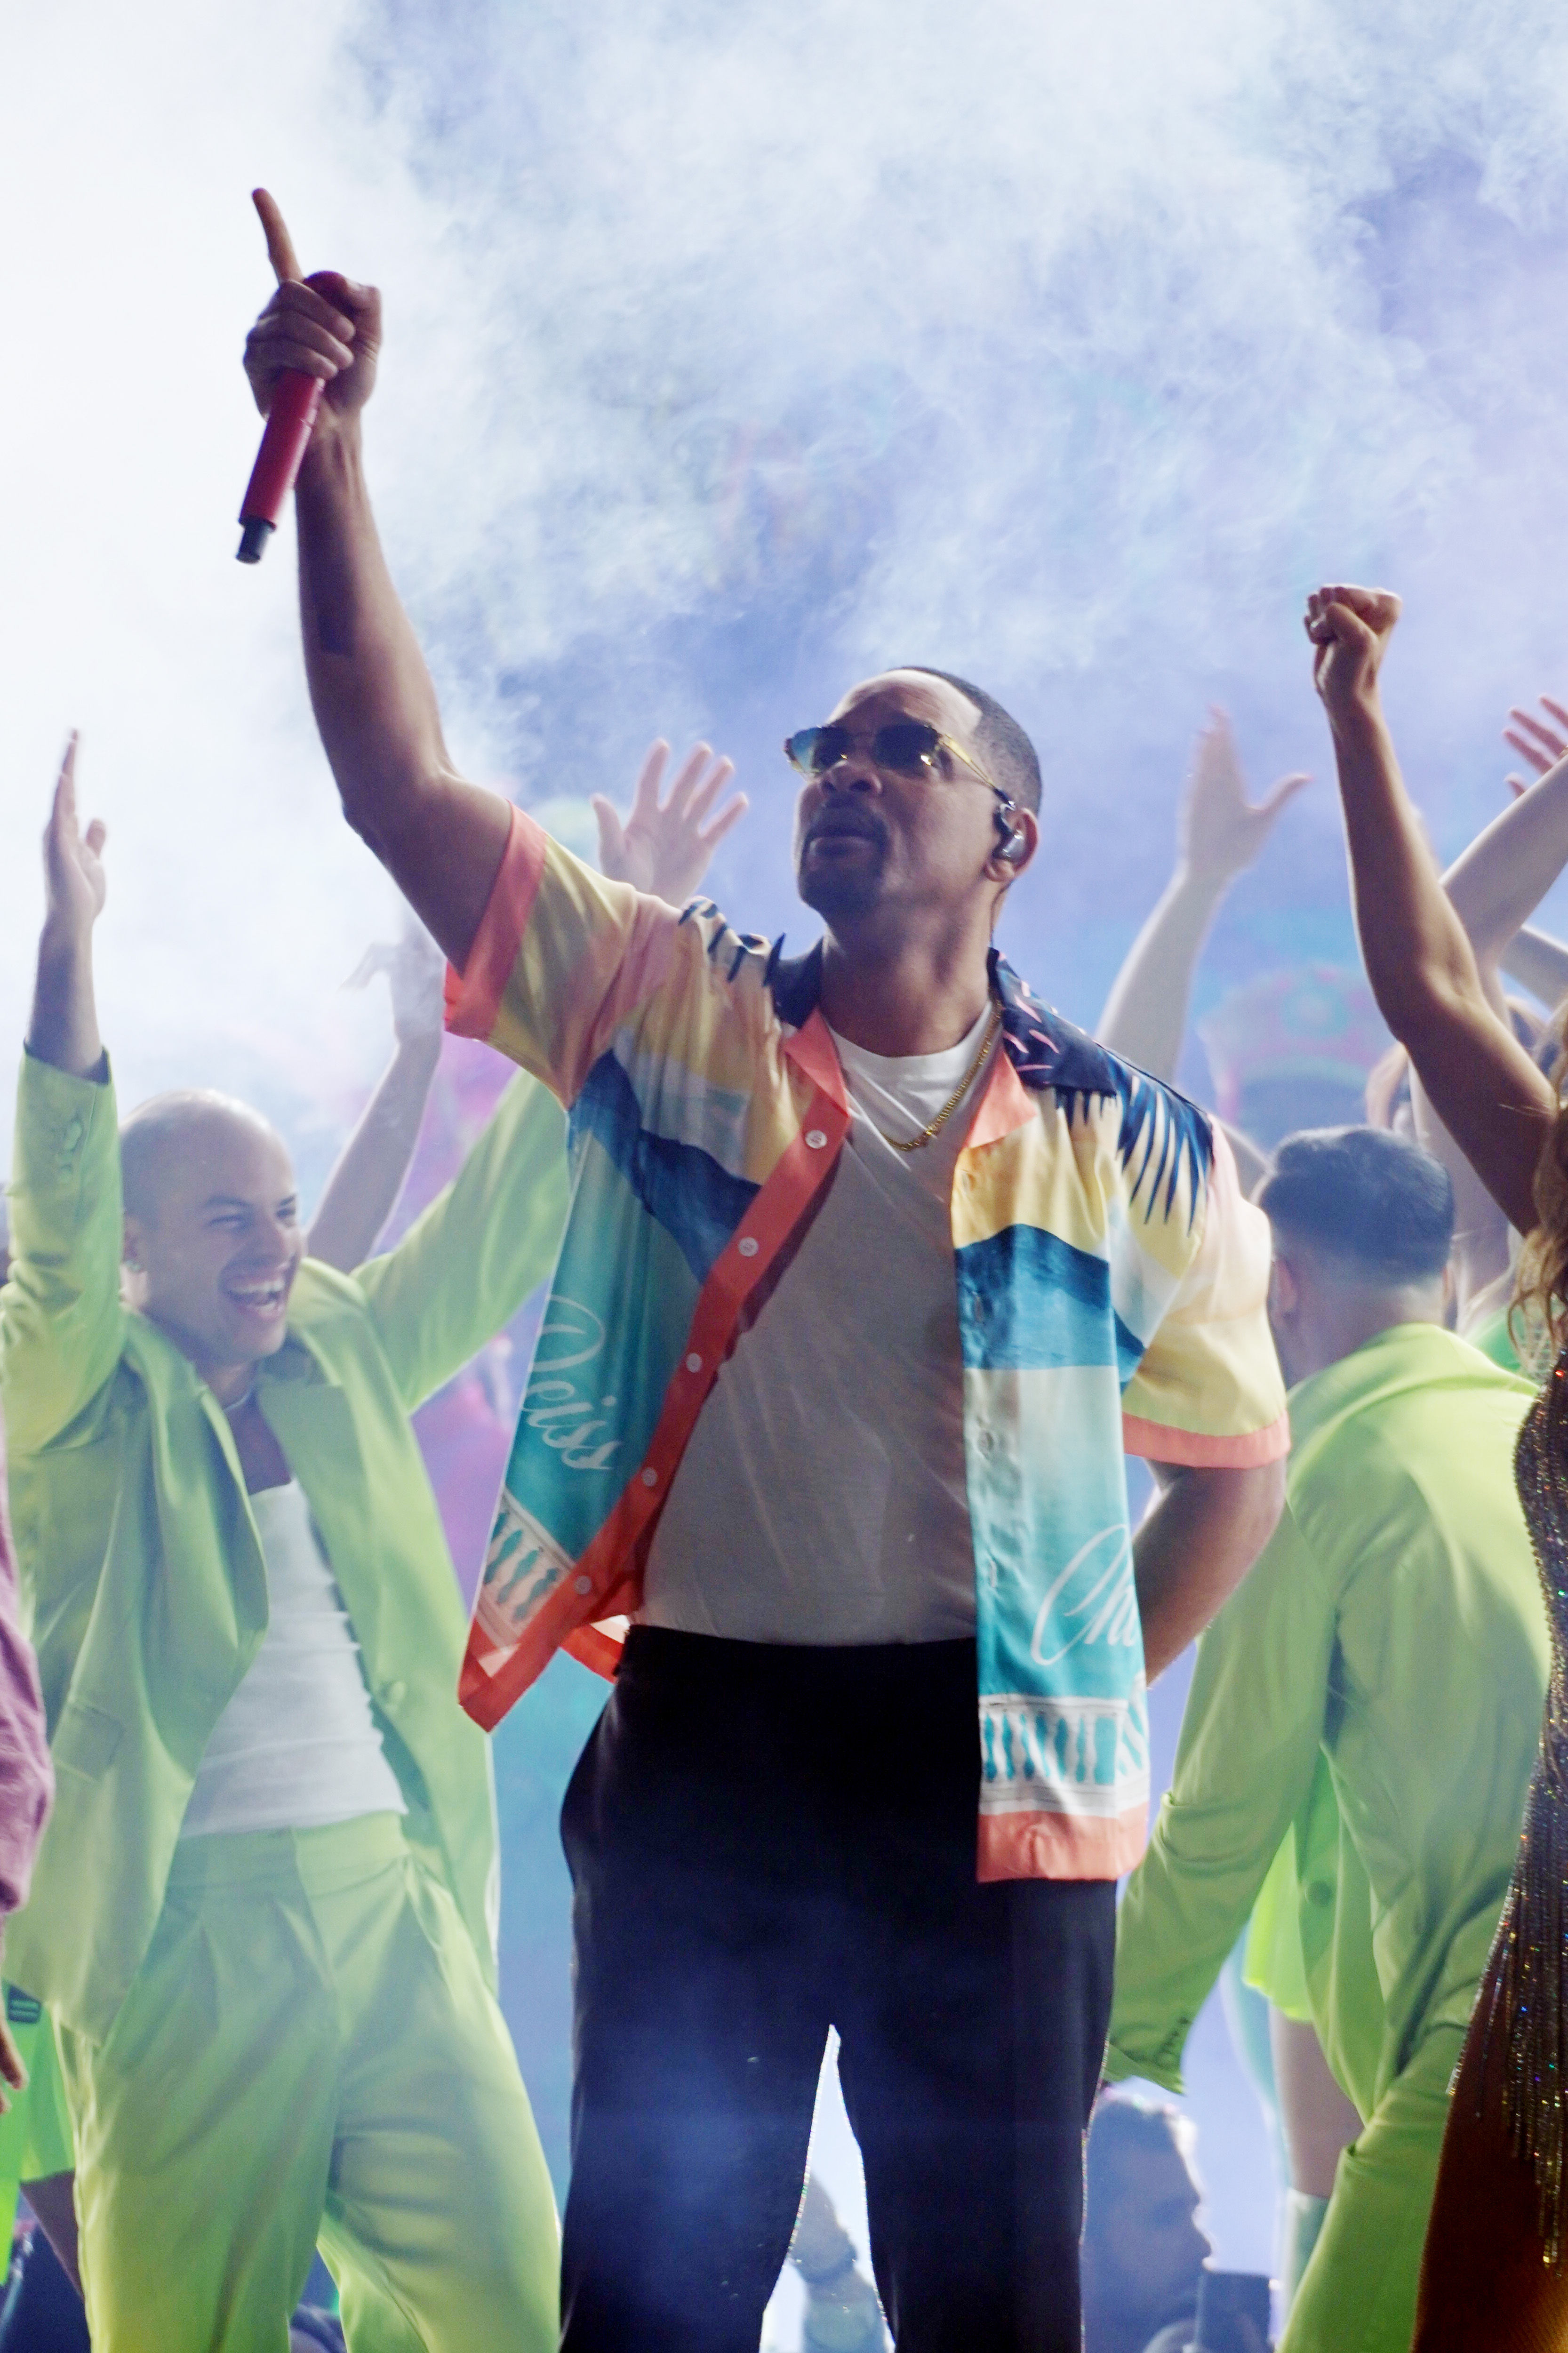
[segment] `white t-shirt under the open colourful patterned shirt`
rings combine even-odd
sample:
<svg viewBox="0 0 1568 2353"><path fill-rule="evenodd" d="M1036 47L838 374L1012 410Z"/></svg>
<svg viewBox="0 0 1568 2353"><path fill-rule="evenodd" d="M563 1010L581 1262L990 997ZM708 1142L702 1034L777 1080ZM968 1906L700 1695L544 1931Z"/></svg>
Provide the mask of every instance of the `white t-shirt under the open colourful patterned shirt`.
<svg viewBox="0 0 1568 2353"><path fill-rule="evenodd" d="M822 1645L975 1633L949 1202L984 1071L921 1151L895 1153L878 1129L916 1136L989 1021L991 1005L944 1054L895 1059L833 1038L850 1134L697 1417L640 1624Z"/></svg>

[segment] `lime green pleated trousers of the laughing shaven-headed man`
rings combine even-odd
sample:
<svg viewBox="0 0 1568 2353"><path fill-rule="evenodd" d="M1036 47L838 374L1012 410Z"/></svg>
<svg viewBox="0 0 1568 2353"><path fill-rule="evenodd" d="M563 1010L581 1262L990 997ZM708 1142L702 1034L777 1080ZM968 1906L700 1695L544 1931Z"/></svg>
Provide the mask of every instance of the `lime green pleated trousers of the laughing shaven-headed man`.
<svg viewBox="0 0 1568 2353"><path fill-rule="evenodd" d="M59 2038L94 2353L546 2353L558 2233L501 2014L396 1814L186 1840L106 2042Z"/></svg>

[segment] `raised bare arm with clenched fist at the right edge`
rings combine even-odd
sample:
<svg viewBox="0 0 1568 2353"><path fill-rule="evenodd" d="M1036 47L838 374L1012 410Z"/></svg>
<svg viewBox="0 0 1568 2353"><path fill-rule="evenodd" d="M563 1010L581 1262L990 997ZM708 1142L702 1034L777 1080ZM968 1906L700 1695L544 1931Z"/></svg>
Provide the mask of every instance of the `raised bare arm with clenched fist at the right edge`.
<svg viewBox="0 0 1568 2353"><path fill-rule="evenodd" d="M1344 800L1351 899L1377 1007L1509 1221L1535 1226L1535 1162L1556 1115L1552 1087L1486 1000L1464 934L1406 793L1377 673L1398 619L1380 588L1307 600L1314 682L1328 711Z"/></svg>

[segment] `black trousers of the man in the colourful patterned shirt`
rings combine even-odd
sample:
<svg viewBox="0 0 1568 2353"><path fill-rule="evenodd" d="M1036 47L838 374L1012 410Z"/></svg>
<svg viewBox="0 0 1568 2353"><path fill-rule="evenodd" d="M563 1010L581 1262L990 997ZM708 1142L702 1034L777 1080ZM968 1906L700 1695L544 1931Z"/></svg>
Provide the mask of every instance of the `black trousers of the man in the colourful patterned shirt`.
<svg viewBox="0 0 1568 2353"><path fill-rule="evenodd" d="M975 1880L975 1645L633 1628L563 1812L563 2353L756 2353L829 2026L899 2353L1078 2353L1114 1887Z"/></svg>

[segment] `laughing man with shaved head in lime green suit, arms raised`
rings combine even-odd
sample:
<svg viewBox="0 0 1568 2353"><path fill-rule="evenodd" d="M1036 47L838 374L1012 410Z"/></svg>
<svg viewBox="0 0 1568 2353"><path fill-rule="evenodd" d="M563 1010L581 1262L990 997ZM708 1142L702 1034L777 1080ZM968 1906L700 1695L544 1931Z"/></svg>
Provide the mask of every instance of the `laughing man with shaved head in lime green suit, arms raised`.
<svg viewBox="0 0 1568 2353"><path fill-rule="evenodd" d="M549 2353L490 1760L407 1414L549 1271L560 1113L509 1089L393 1252L304 1259L245 1106L118 1136L99 849L68 755L0 1292L57 1802L5 1965L61 2028L92 2341L283 2346L320 2231L356 2353Z"/></svg>

